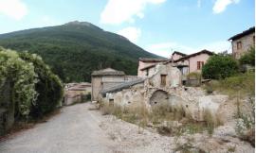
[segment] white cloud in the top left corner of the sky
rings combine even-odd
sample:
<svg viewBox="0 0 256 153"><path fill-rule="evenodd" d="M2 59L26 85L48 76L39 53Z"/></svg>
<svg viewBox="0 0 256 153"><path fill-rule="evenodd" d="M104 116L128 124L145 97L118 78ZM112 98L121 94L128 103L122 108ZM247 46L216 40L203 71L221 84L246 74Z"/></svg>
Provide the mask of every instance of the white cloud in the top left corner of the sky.
<svg viewBox="0 0 256 153"><path fill-rule="evenodd" d="M27 12L27 6L21 0L0 0L0 14L21 20Z"/></svg>

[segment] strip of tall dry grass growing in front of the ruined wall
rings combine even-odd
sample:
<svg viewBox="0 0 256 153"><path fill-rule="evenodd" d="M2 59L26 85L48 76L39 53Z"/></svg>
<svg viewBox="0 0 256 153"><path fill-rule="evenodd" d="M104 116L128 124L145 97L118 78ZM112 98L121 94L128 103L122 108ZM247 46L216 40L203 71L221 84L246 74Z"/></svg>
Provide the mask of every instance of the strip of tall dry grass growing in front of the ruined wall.
<svg viewBox="0 0 256 153"><path fill-rule="evenodd" d="M151 111L144 106L137 108L124 108L119 106L101 106L102 115L112 114L126 122L136 124L139 128L153 127L158 133L168 136L182 135L182 133L200 133L205 130L213 132L213 128L219 125L219 121L206 111L207 122L196 122L190 114L186 114L181 106L168 104L156 105ZM182 123L177 126L175 123ZM178 121L178 122L176 122ZM163 124L168 123L168 124Z"/></svg>

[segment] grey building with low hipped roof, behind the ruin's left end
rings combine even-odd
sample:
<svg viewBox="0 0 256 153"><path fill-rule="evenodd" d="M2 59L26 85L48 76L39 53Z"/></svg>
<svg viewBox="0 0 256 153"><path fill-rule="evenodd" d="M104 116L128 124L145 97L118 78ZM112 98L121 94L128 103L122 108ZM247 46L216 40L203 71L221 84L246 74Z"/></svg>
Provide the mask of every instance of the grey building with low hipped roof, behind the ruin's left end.
<svg viewBox="0 0 256 153"><path fill-rule="evenodd" d="M137 76L126 76L124 72L112 68L106 68L92 73L92 101L99 101L99 94L102 90L115 85L137 79Z"/></svg>

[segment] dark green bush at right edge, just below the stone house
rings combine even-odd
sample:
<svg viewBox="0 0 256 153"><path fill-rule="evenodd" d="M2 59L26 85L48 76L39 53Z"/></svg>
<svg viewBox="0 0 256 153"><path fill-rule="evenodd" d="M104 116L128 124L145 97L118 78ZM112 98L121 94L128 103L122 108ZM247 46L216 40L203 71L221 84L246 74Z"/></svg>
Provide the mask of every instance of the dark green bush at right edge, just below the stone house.
<svg viewBox="0 0 256 153"><path fill-rule="evenodd" d="M239 59L240 64L249 64L255 66L255 48L251 47L247 53Z"/></svg>

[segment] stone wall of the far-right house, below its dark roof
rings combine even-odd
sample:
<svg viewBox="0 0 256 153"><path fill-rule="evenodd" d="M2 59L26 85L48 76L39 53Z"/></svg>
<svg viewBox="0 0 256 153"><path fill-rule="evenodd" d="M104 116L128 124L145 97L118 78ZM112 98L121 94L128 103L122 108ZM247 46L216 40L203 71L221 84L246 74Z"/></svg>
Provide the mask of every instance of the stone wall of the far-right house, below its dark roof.
<svg viewBox="0 0 256 153"><path fill-rule="evenodd" d="M232 41L232 54L235 59L240 59L243 54L247 52L250 46L254 46L253 36L255 37L255 33L251 33L247 36L244 36L238 40ZM242 42L242 48L237 49L237 42Z"/></svg>

